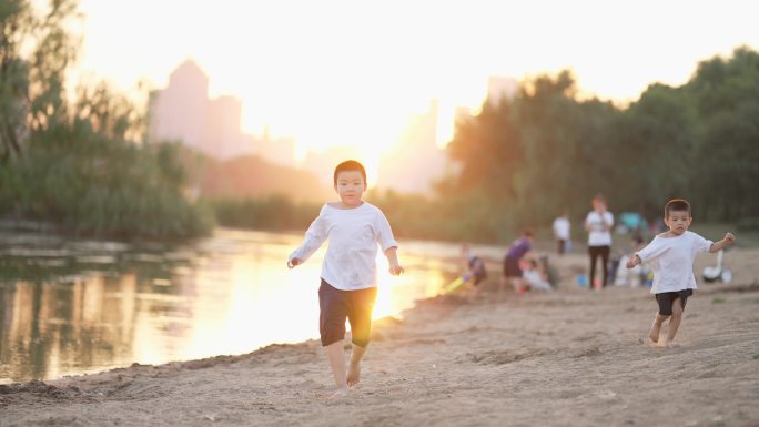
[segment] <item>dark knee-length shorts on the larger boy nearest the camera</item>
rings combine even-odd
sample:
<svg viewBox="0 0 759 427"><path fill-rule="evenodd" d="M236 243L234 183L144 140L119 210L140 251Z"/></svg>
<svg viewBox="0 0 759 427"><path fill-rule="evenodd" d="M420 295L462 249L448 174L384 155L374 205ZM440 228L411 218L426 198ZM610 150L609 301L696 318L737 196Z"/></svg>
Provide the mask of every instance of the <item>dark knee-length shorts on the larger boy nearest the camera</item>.
<svg viewBox="0 0 759 427"><path fill-rule="evenodd" d="M345 338L345 318L351 323L353 344L366 347L372 333L372 312L377 298L377 288L341 291L322 279L318 287L318 332L322 345Z"/></svg>

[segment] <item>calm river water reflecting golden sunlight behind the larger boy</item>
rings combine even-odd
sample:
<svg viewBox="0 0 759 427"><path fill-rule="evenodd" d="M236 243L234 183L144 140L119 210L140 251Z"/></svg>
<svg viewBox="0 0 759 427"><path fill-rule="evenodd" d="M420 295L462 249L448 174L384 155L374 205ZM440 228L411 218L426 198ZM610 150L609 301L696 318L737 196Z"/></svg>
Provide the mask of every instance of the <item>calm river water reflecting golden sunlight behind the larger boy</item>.
<svg viewBox="0 0 759 427"><path fill-rule="evenodd" d="M0 233L0 383L317 337L324 248L290 271L284 260L300 240L219 230L169 250ZM446 261L457 251L404 243L399 277L381 256L375 317L435 295L457 272Z"/></svg>

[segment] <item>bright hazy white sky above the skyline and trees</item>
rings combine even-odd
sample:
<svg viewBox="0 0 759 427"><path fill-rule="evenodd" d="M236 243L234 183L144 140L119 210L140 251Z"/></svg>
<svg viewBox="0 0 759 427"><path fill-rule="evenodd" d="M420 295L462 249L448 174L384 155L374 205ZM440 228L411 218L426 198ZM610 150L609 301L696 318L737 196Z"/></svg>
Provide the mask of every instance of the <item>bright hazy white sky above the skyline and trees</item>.
<svg viewBox="0 0 759 427"><path fill-rule="evenodd" d="M574 70L580 89L635 100L699 60L759 49L749 1L84 0L79 70L122 90L166 84L188 58L243 125L310 148L388 143L437 98L476 108L487 77Z"/></svg>

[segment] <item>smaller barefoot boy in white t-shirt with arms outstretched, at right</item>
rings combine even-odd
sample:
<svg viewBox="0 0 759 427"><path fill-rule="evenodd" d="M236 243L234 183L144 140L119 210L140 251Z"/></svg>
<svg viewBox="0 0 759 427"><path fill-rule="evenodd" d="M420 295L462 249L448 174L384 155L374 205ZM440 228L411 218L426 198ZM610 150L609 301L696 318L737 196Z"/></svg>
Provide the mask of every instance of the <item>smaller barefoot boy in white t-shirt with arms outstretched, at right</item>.
<svg viewBox="0 0 759 427"><path fill-rule="evenodd" d="M712 243L689 232L688 227L694 218L690 216L690 203L682 199L667 202L664 221L669 231L657 235L651 243L637 252L627 262L627 268L647 263L654 270L651 294L656 295L659 313L656 315L648 337L655 344L658 343L661 325L669 318L667 346L674 347L676 346L675 334L680 326L686 302L696 288L696 277L694 277L696 254L719 252L731 245L736 237L732 233L727 233L725 238Z"/></svg>

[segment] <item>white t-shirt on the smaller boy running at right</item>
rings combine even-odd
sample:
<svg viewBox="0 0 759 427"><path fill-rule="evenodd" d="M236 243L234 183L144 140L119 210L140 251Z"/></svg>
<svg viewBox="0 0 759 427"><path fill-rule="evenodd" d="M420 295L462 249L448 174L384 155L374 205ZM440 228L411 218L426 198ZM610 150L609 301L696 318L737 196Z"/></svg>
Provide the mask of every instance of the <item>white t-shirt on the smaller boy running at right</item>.
<svg viewBox="0 0 759 427"><path fill-rule="evenodd" d="M651 294L695 289L694 260L699 252L709 252L711 245L711 241L694 232L677 237L654 237L636 254L654 271Z"/></svg>

